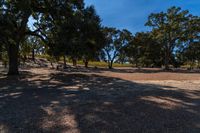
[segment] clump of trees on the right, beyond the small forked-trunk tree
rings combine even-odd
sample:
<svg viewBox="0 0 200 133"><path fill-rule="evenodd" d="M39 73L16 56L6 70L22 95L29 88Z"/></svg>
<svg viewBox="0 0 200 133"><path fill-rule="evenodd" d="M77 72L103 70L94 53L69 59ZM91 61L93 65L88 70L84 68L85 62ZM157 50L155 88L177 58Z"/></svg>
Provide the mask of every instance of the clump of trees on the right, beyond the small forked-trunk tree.
<svg viewBox="0 0 200 133"><path fill-rule="evenodd" d="M119 50L118 62L137 67L200 67L200 17L187 10L171 7L167 12L152 13L146 26Z"/></svg>

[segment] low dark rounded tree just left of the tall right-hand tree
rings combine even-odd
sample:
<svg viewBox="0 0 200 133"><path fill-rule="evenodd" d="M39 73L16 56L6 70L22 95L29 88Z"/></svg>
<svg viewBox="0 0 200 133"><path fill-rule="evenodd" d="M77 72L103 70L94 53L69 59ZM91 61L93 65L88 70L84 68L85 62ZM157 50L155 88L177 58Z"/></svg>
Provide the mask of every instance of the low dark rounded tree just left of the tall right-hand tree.
<svg viewBox="0 0 200 133"><path fill-rule="evenodd" d="M136 67L156 67L162 64L162 47L152 34L152 32L136 33L125 48L126 56Z"/></svg>

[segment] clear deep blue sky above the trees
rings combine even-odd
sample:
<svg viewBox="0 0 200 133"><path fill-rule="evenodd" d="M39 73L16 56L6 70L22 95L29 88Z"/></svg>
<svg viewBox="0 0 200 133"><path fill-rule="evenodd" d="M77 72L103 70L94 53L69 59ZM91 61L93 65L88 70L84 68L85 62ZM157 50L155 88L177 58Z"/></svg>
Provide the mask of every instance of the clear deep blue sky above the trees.
<svg viewBox="0 0 200 133"><path fill-rule="evenodd" d="M95 6L104 26L126 28L133 33L147 30L144 24L150 13L166 11L171 6L200 16L200 0L85 0L85 4Z"/></svg>

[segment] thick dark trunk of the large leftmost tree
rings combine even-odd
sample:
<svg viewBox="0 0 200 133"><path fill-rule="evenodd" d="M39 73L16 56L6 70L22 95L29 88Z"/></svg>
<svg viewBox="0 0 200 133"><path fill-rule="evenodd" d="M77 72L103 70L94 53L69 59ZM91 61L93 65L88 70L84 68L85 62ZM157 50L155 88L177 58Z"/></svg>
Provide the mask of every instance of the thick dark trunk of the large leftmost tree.
<svg viewBox="0 0 200 133"><path fill-rule="evenodd" d="M18 56L19 56L19 45L10 44L8 46L8 58L9 58L8 75L19 75Z"/></svg>

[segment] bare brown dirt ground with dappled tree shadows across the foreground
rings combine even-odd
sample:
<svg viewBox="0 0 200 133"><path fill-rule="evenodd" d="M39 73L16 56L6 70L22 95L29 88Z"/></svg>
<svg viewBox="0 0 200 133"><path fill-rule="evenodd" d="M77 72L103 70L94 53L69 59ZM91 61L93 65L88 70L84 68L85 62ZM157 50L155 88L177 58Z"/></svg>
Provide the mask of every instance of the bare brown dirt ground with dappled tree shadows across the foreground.
<svg viewBox="0 0 200 133"><path fill-rule="evenodd" d="M0 133L199 133L200 73L160 69L0 74Z"/></svg>

